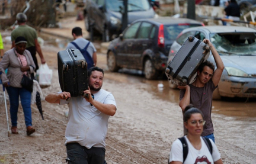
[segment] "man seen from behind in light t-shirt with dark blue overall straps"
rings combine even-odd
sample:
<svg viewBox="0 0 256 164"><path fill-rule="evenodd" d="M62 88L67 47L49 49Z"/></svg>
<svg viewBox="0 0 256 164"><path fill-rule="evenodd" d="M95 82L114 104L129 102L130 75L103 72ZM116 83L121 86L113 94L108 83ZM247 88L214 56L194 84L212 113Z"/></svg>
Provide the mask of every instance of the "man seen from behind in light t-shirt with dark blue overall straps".
<svg viewBox="0 0 256 164"><path fill-rule="evenodd" d="M87 69L96 66L97 64L97 54L94 45L82 37L82 28L75 27L72 29L73 41L68 43L66 49L78 49L83 54L86 62Z"/></svg>

